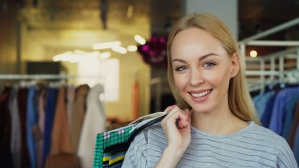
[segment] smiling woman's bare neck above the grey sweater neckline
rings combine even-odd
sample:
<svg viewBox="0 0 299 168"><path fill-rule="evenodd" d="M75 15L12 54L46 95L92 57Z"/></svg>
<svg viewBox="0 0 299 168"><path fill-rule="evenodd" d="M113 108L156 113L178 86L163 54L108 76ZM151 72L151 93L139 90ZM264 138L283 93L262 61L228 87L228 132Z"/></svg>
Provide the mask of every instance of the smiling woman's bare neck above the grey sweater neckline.
<svg viewBox="0 0 299 168"><path fill-rule="evenodd" d="M232 134L248 125L230 111L228 103L211 112L192 111L191 124L203 132L214 135Z"/></svg>

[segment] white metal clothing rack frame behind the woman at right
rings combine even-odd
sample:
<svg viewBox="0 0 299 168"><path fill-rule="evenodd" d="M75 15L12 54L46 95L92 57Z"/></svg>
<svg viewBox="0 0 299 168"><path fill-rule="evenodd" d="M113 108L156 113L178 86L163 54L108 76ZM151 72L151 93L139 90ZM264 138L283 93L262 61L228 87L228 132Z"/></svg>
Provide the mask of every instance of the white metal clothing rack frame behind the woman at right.
<svg viewBox="0 0 299 168"><path fill-rule="evenodd" d="M293 47L281 52L273 53L263 57L251 58L246 56L245 62L246 66L250 65L259 66L259 70L246 70L246 76L259 76L259 79L252 81L254 84L260 84L261 89L264 88L266 84L266 76L269 77L269 81L276 80L283 83L285 78L290 78L294 74L299 74L299 41L267 41L267 40L258 40L265 36L271 35L278 31L285 30L287 28L294 27L299 25L299 18L286 22L284 24L278 25L269 30L263 31L251 37L248 37L244 40L238 42L240 48L240 54L245 56L246 46L288 46ZM276 64L276 60L279 60ZM285 63L285 59L296 59L295 63ZM269 62L269 63L268 63ZM288 70L286 70L288 68ZM269 70L266 70L269 69ZM278 70L276 70L278 69Z"/></svg>

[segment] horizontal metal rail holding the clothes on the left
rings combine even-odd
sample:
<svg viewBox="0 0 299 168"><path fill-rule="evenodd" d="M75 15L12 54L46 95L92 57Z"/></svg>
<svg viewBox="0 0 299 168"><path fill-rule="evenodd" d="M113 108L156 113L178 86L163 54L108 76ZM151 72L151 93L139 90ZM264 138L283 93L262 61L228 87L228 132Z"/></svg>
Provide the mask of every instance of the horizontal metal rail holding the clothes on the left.
<svg viewBox="0 0 299 168"><path fill-rule="evenodd" d="M0 74L0 80L55 80L55 79L74 79L74 78L104 78L103 76L78 76L78 75L53 75L53 74Z"/></svg>

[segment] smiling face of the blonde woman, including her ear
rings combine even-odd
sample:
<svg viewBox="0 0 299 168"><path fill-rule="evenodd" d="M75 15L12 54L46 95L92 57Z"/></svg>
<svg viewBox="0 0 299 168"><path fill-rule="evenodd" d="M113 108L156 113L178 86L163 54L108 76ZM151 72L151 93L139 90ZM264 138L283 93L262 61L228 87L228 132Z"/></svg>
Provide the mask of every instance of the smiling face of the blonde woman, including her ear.
<svg viewBox="0 0 299 168"><path fill-rule="evenodd" d="M200 28L180 31L171 47L175 85L195 112L223 110L238 54L228 56L219 40ZM236 72L237 71L237 72Z"/></svg>

